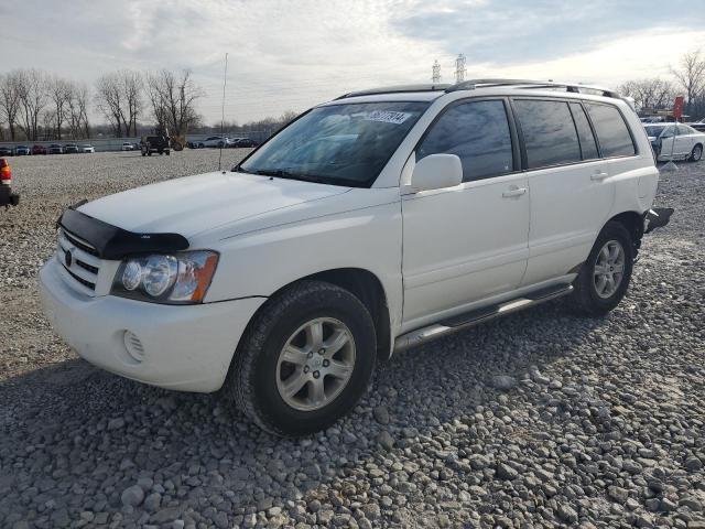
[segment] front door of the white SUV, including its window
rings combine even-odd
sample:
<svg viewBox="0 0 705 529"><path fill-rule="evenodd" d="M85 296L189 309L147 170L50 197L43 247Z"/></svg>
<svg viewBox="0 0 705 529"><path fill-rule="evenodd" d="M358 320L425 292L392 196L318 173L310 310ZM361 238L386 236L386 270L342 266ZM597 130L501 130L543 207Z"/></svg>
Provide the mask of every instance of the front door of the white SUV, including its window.
<svg viewBox="0 0 705 529"><path fill-rule="evenodd" d="M452 104L426 132L415 160L456 154L463 183L405 195L404 327L514 290L528 256L529 187L501 99Z"/></svg>

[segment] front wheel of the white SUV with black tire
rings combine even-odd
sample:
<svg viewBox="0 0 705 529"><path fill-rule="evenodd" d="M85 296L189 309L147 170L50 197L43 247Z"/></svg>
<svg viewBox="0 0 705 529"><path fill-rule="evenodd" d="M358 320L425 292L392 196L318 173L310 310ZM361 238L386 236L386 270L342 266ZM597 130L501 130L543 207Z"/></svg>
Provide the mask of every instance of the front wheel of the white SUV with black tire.
<svg viewBox="0 0 705 529"><path fill-rule="evenodd" d="M323 343L317 341L318 345L313 348L330 344L332 335L326 334L326 325L333 325L328 331L347 337L345 345L329 356L330 360L325 358L334 345L327 345L328 353L323 353L325 347L318 349L319 355L325 356L311 350L305 330L315 322L323 322L319 334ZM336 327L337 324L341 326ZM304 331L300 331L302 328ZM294 337L301 339L296 343L300 355L295 358L301 360L297 366L281 359L284 347ZM306 350L311 350L308 355L302 353ZM248 325L230 365L224 393L263 430L282 436L306 435L328 428L352 409L367 389L376 356L375 324L359 299L330 283L300 281L271 298ZM326 367L333 361L338 367L347 366L347 380L326 374L316 376L325 369L333 370L334 367ZM289 375L284 377L285 369ZM305 382L297 392L285 397L285 382L292 379ZM328 389L324 397L319 402L313 402L314 388L326 385Z"/></svg>

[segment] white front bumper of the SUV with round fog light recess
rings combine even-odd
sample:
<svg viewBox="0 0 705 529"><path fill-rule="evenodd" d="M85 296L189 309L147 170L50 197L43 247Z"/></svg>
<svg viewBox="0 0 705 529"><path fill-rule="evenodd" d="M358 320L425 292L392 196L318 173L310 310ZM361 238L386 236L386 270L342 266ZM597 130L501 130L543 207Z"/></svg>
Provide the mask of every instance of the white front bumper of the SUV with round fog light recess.
<svg viewBox="0 0 705 529"><path fill-rule="evenodd" d="M113 295L90 298L64 282L59 266L52 258L40 272L44 314L57 334L89 363L163 388L218 390L245 327L264 302L251 298L161 305Z"/></svg>

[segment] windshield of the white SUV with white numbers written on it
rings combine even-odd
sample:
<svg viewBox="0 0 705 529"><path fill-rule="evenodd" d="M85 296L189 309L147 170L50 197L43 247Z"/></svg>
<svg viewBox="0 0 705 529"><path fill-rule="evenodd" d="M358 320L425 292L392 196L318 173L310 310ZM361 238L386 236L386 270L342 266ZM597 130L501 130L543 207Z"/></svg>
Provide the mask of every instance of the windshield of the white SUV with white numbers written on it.
<svg viewBox="0 0 705 529"><path fill-rule="evenodd" d="M314 108L235 171L367 187L427 107L387 101Z"/></svg>

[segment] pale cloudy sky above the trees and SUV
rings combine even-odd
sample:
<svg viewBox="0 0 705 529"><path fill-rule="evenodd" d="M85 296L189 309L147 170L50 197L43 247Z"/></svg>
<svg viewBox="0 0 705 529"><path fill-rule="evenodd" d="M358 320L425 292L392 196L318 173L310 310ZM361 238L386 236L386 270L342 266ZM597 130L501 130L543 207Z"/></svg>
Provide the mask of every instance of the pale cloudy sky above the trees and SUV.
<svg viewBox="0 0 705 529"><path fill-rule="evenodd" d="M669 75L705 50L703 0L0 0L0 72L37 67L93 84L118 68L191 68L206 122L245 122L352 89L468 77L616 86Z"/></svg>

